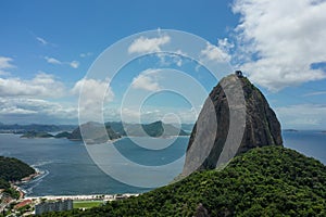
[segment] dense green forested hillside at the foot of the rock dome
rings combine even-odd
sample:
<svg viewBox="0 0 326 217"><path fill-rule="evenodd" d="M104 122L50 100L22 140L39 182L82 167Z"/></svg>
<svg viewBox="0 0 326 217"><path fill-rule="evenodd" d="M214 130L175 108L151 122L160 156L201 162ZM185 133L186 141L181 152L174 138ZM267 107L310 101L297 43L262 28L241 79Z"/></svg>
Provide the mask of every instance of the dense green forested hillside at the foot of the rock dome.
<svg viewBox="0 0 326 217"><path fill-rule="evenodd" d="M202 205L200 205L202 204ZM47 216L326 216L326 167L281 146L256 148L138 197Z"/></svg>

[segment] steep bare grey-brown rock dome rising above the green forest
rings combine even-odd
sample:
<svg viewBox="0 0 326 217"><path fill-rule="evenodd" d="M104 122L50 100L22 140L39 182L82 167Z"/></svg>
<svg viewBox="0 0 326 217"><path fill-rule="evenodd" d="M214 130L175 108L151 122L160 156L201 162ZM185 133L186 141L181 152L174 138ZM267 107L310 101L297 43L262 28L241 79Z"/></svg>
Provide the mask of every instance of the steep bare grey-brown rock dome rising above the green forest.
<svg viewBox="0 0 326 217"><path fill-rule="evenodd" d="M183 176L214 169L250 149L283 145L280 124L248 78L223 78L206 99L192 129Z"/></svg>

